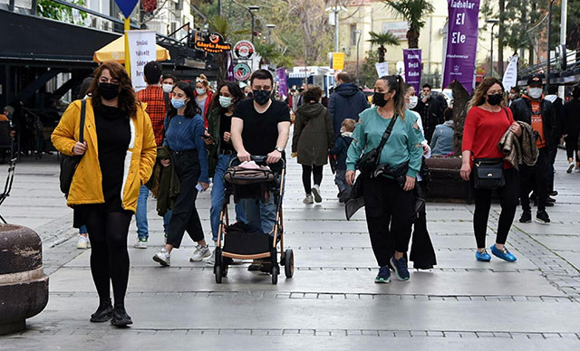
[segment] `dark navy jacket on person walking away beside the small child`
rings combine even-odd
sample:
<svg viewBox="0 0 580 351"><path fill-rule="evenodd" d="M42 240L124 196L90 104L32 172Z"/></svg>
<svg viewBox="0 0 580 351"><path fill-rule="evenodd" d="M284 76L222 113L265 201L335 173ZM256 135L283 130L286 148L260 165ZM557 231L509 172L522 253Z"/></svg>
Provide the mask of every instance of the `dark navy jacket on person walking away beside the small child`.
<svg viewBox="0 0 580 351"><path fill-rule="evenodd" d="M359 113L369 108L366 96L353 83L343 83L336 87L328 101L330 118L333 121L334 138L341 135L341 125L344 119L359 120Z"/></svg>

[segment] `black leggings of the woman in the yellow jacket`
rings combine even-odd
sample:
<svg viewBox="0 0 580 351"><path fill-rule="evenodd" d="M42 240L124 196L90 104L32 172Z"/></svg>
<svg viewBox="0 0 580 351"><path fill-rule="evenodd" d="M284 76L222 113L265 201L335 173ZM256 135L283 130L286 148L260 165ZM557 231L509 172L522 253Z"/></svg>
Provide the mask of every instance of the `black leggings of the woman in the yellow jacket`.
<svg viewBox="0 0 580 351"><path fill-rule="evenodd" d="M127 234L132 213L88 210L87 230L91 240L91 273L99 299L109 302L112 291L115 305L123 305L129 281Z"/></svg>

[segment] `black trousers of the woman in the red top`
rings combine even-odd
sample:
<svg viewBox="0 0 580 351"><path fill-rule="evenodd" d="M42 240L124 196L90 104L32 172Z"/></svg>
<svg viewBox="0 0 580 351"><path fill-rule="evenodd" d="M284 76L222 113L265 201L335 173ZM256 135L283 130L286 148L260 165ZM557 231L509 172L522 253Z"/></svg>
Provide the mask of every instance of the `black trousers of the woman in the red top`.
<svg viewBox="0 0 580 351"><path fill-rule="evenodd" d="M472 175L473 176L473 175ZM498 235L496 242L505 244L507 233L514 222L517 210L517 195L519 192L518 175L515 168L504 170L506 185L497 189L501 213L499 214ZM546 184L546 182L544 182ZM489 209L491 208L491 194L489 189L473 189L475 213L473 213L473 232L478 249L486 247L486 233L488 230ZM529 203L529 198L528 198Z"/></svg>

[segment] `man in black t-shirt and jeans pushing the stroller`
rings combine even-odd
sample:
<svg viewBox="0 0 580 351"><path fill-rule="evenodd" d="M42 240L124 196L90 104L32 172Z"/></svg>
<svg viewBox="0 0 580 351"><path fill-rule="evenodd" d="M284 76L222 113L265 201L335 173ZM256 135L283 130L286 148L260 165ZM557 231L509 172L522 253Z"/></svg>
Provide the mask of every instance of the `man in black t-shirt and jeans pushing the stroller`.
<svg viewBox="0 0 580 351"><path fill-rule="evenodd" d="M266 163L274 166L285 157L284 149L290 133L290 109L282 101L272 99L274 77L266 70L255 71L250 77L252 99L237 103L232 116L232 143L240 161L251 156L266 156ZM264 232L272 232L275 223L275 204L244 199L247 223Z"/></svg>

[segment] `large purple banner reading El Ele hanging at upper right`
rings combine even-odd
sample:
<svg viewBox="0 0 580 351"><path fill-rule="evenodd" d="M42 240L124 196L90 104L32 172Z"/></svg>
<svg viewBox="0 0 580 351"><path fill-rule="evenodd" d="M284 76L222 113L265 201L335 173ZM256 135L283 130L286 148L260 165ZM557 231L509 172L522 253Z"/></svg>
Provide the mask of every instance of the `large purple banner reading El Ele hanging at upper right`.
<svg viewBox="0 0 580 351"><path fill-rule="evenodd" d="M448 0L449 28L443 71L443 87L459 81L473 90L478 50L479 0Z"/></svg>

